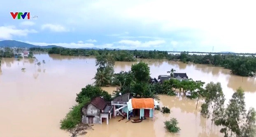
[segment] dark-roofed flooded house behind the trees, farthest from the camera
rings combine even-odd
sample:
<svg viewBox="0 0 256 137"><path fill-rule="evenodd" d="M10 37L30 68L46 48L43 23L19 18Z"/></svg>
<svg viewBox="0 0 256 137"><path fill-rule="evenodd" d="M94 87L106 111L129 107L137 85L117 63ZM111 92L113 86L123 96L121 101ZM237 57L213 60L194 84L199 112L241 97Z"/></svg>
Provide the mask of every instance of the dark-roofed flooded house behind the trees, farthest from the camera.
<svg viewBox="0 0 256 137"><path fill-rule="evenodd" d="M170 75L159 75L158 80L161 82L164 82L165 80L170 80L170 79L176 79L179 81L189 80L189 77L187 76L186 73L173 73L172 76L173 77L171 77Z"/></svg>

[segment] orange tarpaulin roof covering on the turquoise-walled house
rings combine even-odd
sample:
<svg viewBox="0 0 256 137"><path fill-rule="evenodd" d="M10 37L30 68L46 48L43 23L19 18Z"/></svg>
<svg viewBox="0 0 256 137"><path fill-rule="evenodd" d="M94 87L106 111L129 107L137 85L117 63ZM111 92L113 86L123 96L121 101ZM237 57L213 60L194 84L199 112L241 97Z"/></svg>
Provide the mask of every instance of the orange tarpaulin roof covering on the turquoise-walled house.
<svg viewBox="0 0 256 137"><path fill-rule="evenodd" d="M154 108L153 98L132 98L133 109Z"/></svg>

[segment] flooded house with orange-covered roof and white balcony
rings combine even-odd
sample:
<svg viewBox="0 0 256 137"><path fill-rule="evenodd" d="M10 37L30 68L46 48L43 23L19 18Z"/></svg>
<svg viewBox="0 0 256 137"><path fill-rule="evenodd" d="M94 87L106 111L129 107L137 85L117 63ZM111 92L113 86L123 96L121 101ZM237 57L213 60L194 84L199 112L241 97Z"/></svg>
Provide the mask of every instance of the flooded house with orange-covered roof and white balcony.
<svg viewBox="0 0 256 137"><path fill-rule="evenodd" d="M127 116L133 112L135 116L141 117L154 117L154 108L158 105L158 102L153 98L133 98L130 93L123 94L114 98L111 101L113 106L114 117L118 114Z"/></svg>

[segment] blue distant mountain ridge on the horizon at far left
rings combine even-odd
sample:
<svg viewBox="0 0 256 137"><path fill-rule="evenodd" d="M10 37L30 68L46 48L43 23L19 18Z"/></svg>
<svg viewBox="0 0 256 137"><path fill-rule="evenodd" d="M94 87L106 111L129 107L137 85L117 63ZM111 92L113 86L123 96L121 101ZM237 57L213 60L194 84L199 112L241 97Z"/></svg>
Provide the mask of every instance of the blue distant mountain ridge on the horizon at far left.
<svg viewBox="0 0 256 137"><path fill-rule="evenodd" d="M16 47L16 48L52 48L52 47L58 47L58 48L63 48L61 46L56 46L56 45L48 45L48 46L37 46L37 45L33 45L33 44L29 44L29 43L25 43L25 42L21 42L21 41L14 41L14 40L4 40L4 41L0 41L0 47Z"/></svg>

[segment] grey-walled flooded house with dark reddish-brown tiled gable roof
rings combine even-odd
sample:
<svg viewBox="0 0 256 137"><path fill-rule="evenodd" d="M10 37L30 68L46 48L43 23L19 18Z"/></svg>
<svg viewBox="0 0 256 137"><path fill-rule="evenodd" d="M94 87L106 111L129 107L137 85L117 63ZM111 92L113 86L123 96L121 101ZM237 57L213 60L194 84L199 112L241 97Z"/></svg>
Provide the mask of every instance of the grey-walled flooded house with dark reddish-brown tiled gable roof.
<svg viewBox="0 0 256 137"><path fill-rule="evenodd" d="M82 107L82 123L102 123L106 119L107 124L111 119L111 105L101 97L96 97L90 103Z"/></svg>

